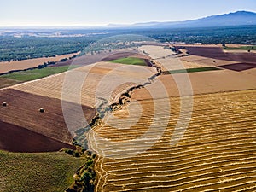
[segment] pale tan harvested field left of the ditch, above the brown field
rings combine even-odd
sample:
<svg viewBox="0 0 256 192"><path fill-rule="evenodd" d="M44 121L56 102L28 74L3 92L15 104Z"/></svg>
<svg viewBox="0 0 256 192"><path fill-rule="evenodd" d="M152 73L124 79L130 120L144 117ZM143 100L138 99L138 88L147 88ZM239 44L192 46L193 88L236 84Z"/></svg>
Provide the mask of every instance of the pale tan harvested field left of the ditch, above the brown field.
<svg viewBox="0 0 256 192"><path fill-rule="evenodd" d="M137 72L137 73L135 73ZM137 66L126 66L118 63L110 63L110 62L99 62L90 66L79 67L69 71L68 73L61 73L55 76L51 76L49 78L39 79L36 81L28 82L26 84L18 84L13 88L15 90L21 90L24 92L29 92L39 96L47 96L50 98L62 99L61 96L63 83L66 78L66 75L70 75L71 80L67 82L67 86L73 87L74 84L82 83L82 91L81 91L81 103L82 105L89 106L91 108L95 108L96 104L99 102L96 98L96 92L102 95L101 97L109 95L111 91L111 84L117 84L119 81L117 79L125 79L126 82L133 82L135 78L138 79L148 79L150 74L154 74L155 70L151 67L137 67ZM148 75L149 74L149 75ZM68 76L69 77L69 76ZM86 77L86 79L84 79ZM102 79L104 79L104 82ZM84 82L83 82L84 79ZM108 80L108 82L105 82ZM108 86L102 87L99 90L99 84L108 83ZM69 84L69 85L68 85ZM109 102L113 102L116 96L119 93L129 89L134 84L124 84L120 87L120 90L116 90L114 97L110 98ZM73 96L76 96L75 91L79 91L80 87L74 88L75 90L67 90L67 94L70 94L69 102L73 102ZM80 94L80 92L78 93ZM99 96L100 96L99 95Z"/></svg>

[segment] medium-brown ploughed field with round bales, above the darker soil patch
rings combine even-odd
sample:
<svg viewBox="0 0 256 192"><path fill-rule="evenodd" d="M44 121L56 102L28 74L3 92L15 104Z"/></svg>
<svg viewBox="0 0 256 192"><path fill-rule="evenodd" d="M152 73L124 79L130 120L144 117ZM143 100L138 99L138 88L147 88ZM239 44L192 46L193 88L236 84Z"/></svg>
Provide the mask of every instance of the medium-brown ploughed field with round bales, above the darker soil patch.
<svg viewBox="0 0 256 192"><path fill-rule="evenodd" d="M49 137L50 139L54 139L61 143L72 142L73 137L67 129L67 125L63 117L61 100L46 96L37 96L20 90L3 89L0 90L0 101L1 103L7 102L7 107L1 106L0 108L0 120L7 123L6 125L13 125L13 129L14 126L17 126L16 129L18 131L18 129L20 129L19 127L22 127L23 129L29 130L24 132L30 133L33 131L35 134ZM68 102L67 104L67 110L72 111L72 113L70 113L70 118L77 121L77 124L80 125L80 119L76 117L77 112L73 110L77 104ZM44 108L45 112L40 113L38 111L39 108ZM84 110L85 118L90 122L96 114L95 109L87 106L82 106L82 108ZM6 127L3 127L2 129L6 129ZM2 135L1 137L4 136ZM50 139L42 139L41 141L50 141ZM38 139L38 144L41 141ZM61 143L55 142L55 146L52 146L52 148L61 146ZM43 147L44 145L47 146L47 143L42 145ZM46 146L45 149L47 149ZM67 146L67 144L63 144L63 147L65 146ZM35 148L32 147L32 150L34 149ZM12 150L15 151L15 148L12 148ZM38 150L43 150L43 148Z"/></svg>

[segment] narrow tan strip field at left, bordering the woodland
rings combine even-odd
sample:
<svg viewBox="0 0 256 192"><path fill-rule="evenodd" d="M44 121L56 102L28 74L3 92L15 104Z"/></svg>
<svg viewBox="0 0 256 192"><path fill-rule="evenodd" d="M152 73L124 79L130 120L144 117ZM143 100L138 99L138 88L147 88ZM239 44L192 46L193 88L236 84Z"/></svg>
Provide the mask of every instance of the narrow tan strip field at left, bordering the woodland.
<svg viewBox="0 0 256 192"><path fill-rule="evenodd" d="M73 55L76 54L58 55L55 57L44 57L22 61L0 62L0 73L6 73L12 70L22 70L30 67L38 67L38 65L42 65L44 62L60 61L61 59L69 58Z"/></svg>

